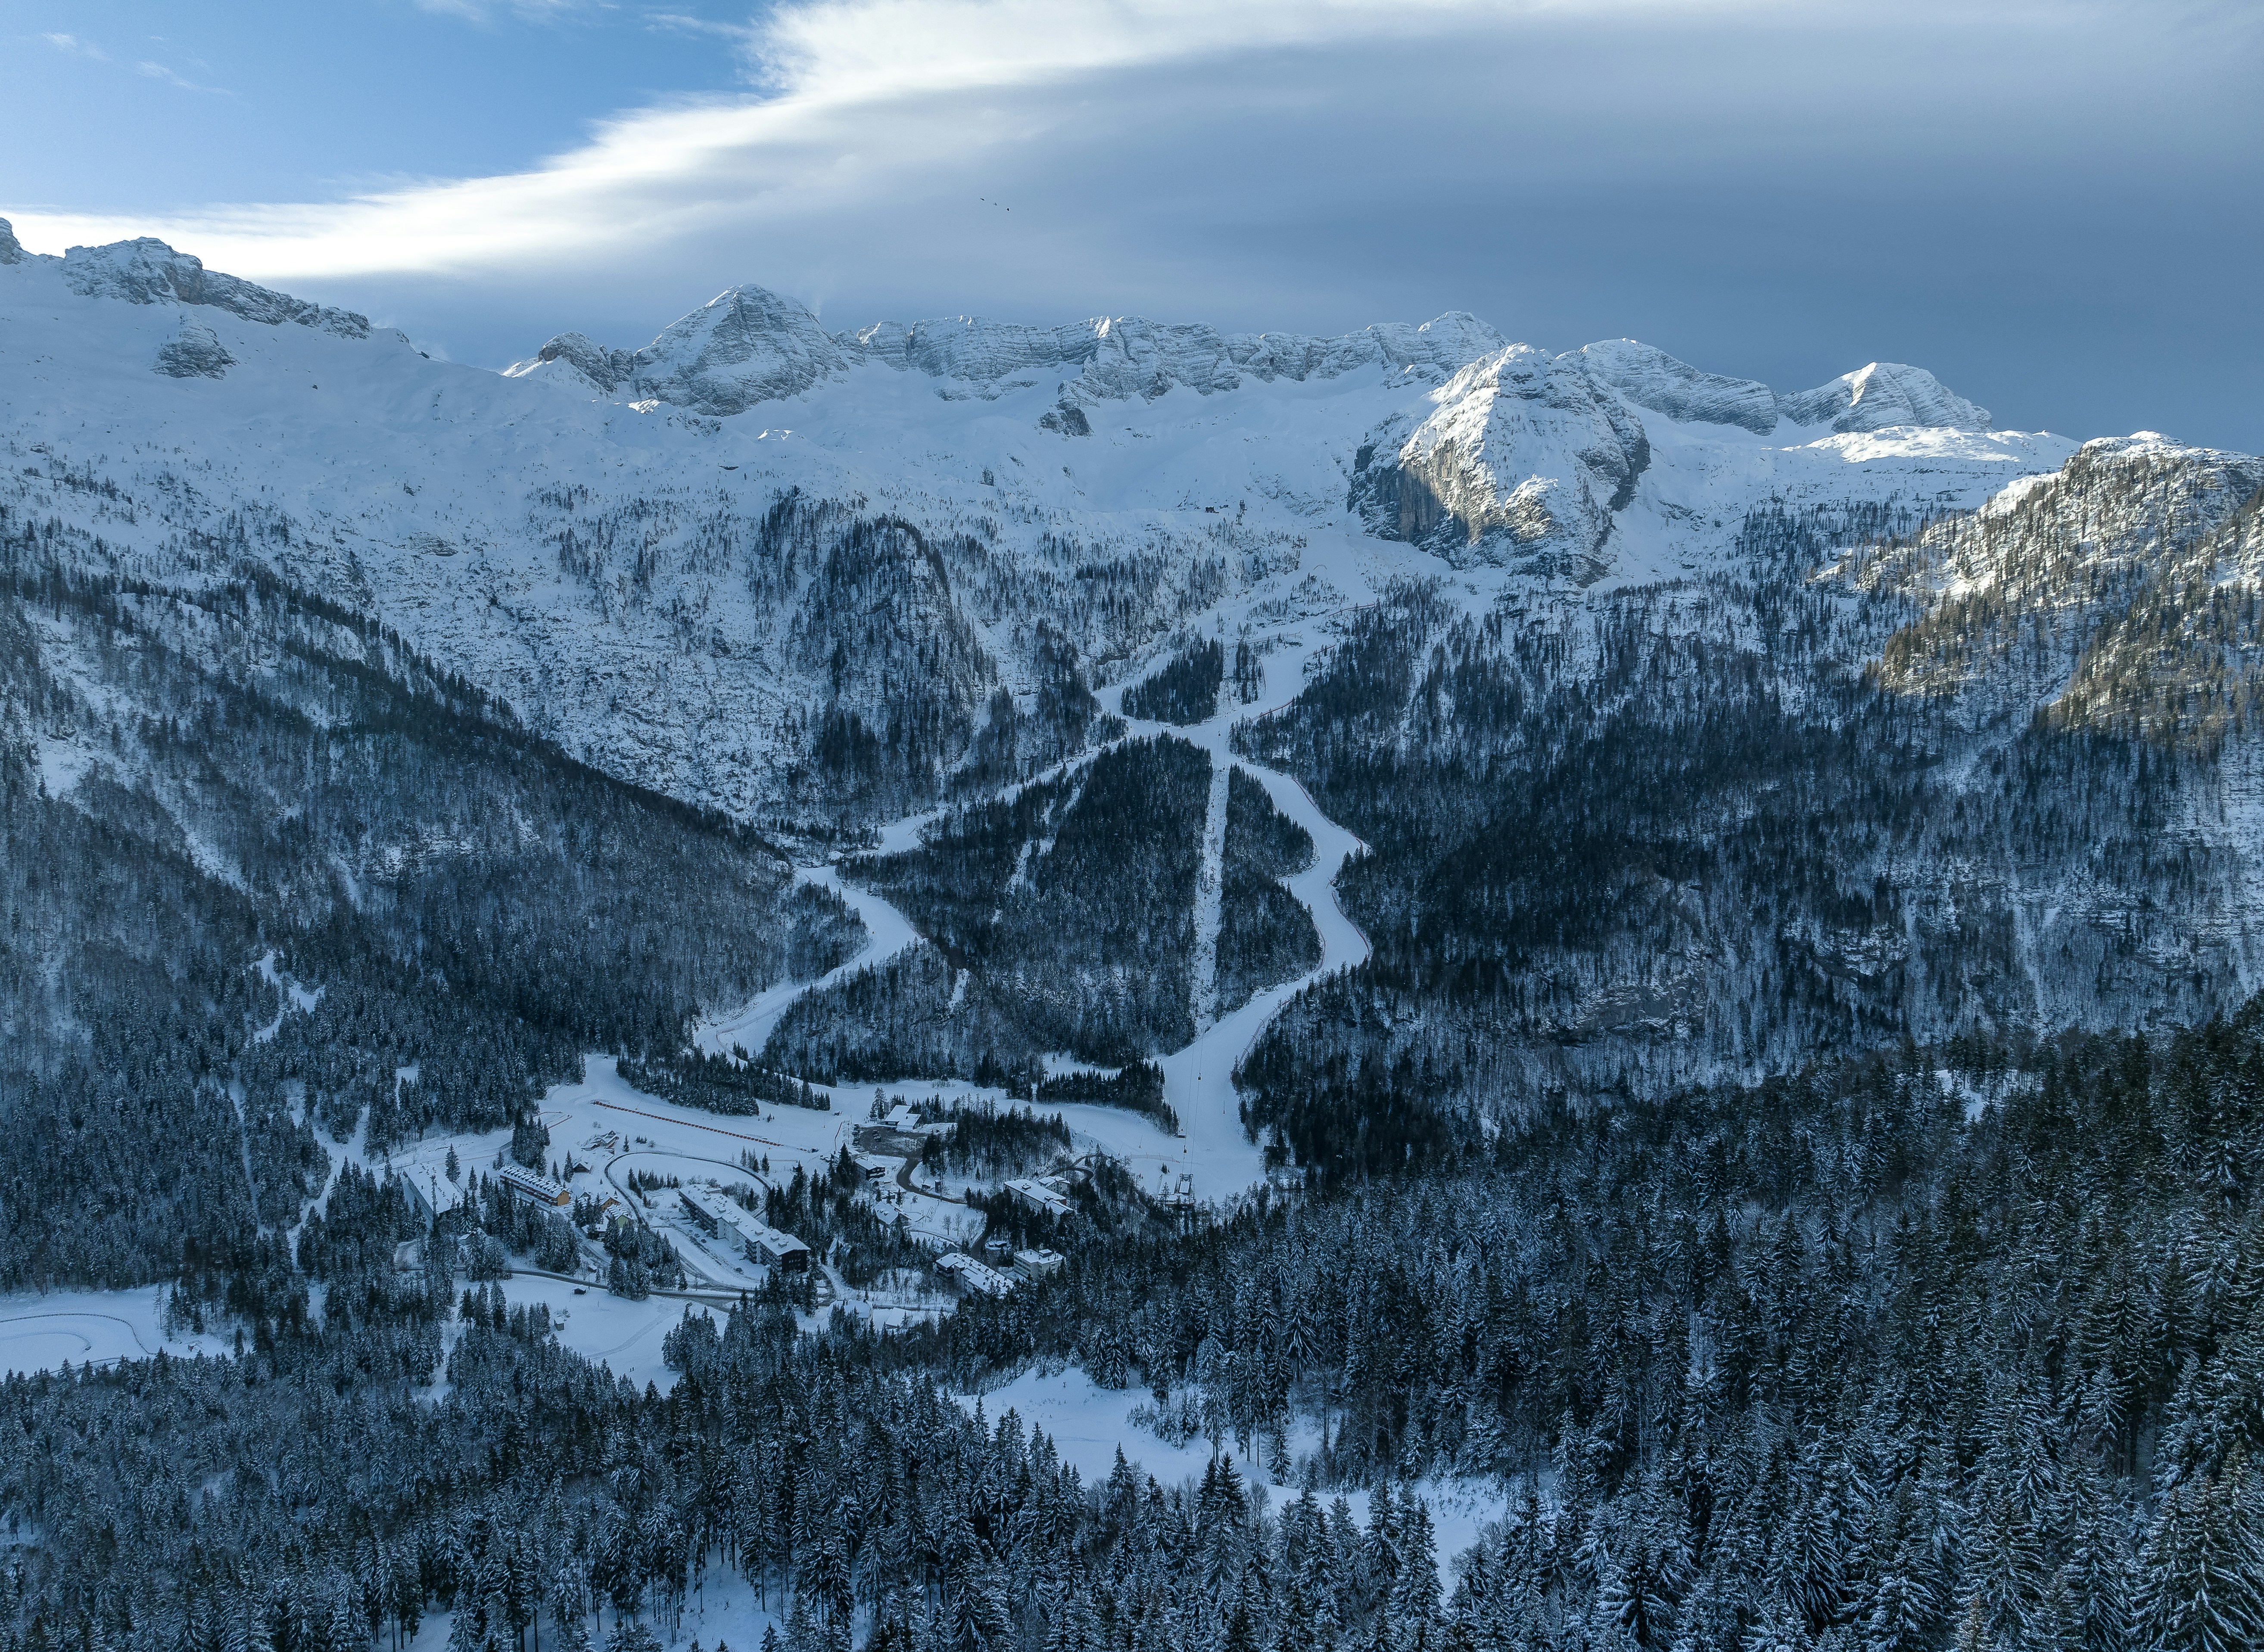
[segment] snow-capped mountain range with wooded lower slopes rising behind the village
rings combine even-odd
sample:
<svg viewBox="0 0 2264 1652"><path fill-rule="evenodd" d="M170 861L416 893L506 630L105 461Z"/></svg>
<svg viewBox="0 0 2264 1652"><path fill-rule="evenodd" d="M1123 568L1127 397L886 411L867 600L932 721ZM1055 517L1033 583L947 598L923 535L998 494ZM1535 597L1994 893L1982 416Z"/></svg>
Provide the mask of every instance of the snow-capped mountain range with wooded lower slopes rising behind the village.
<svg viewBox="0 0 2264 1652"><path fill-rule="evenodd" d="M491 373L156 242L0 256L18 566L256 568L620 781L801 844L885 828L829 887L901 892L917 921L867 930L937 950L727 1016L718 1055L1184 1057L1170 1104L1245 1152L1234 1091L1186 1089L1234 1068L1207 1039L1322 978L1281 1027L1356 1027L1481 1111L2253 982L2250 459L1995 430L1915 367L1777 392L1467 315L826 330L743 285ZM66 724L36 733L59 785L118 767ZM1159 907L1094 889L1087 754L1127 726L1161 745L1109 808L1168 792ZM2015 769L2049 842L1961 824ZM1236 871L1275 862L1227 833L1234 772L1281 831L1365 840L1343 912ZM1032 778L1010 815L926 812ZM1549 860L1576 851L1603 860ZM1080 926L1130 930L1057 950Z"/></svg>

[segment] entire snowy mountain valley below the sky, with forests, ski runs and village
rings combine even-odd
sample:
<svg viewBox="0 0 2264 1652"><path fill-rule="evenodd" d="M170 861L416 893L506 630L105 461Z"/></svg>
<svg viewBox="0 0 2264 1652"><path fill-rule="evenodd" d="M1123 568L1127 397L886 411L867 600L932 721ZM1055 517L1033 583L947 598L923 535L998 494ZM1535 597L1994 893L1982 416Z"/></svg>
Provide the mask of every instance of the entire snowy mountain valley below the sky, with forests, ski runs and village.
<svg viewBox="0 0 2264 1652"><path fill-rule="evenodd" d="M2264 1625L2264 459L0 222L0 1652Z"/></svg>

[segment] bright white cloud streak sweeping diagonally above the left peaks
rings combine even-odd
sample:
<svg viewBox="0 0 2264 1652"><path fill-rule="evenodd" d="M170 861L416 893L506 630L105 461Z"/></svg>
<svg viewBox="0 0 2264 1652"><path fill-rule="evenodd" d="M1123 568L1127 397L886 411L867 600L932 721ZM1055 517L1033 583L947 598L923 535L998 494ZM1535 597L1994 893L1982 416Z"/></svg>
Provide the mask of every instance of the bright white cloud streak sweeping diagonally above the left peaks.
<svg viewBox="0 0 2264 1652"><path fill-rule="evenodd" d="M489 0L419 0L487 18ZM568 0L516 0L559 14ZM589 140L523 172L419 179L342 201L211 206L158 222L20 213L27 244L156 233L263 278L494 272L634 240L645 249L761 222L817 199L835 208L892 179L1028 140L1048 118L1007 104L944 106L1118 70L1358 38L1410 41L1526 18L1689 18L1780 0L801 0L736 34L743 97L657 104L598 122ZM654 23L693 23L659 14ZM143 72L174 79L158 66Z"/></svg>

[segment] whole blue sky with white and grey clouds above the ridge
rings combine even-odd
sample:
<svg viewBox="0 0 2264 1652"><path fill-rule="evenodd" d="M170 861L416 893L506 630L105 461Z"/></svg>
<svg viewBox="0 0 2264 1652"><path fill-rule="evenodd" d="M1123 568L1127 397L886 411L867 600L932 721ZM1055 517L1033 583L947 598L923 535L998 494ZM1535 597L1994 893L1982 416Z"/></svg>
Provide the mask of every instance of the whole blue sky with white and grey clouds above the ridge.
<svg viewBox="0 0 2264 1652"><path fill-rule="evenodd" d="M2155 0L0 0L0 215L500 364L829 324L1460 308L2264 448L2264 16Z"/></svg>

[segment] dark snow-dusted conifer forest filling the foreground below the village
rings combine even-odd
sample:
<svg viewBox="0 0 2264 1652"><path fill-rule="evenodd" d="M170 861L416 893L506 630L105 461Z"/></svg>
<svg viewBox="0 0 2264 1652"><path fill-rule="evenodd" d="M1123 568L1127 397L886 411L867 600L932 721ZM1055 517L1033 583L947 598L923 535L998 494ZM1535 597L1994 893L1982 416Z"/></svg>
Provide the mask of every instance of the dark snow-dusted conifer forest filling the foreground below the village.
<svg viewBox="0 0 2264 1652"><path fill-rule="evenodd" d="M625 1645L740 1575L808 1647L2246 1645L2259 1075L2264 1005L1558 1113L1071 1233L915 1337L688 1315L668 1396L401 1281L417 1220L349 1179L231 1276L240 1356L0 1387L9 1636ZM1202 1482L1084 1485L940 1394L1064 1358L1209 1437ZM1440 1473L1515 1489L1444 1582Z"/></svg>

